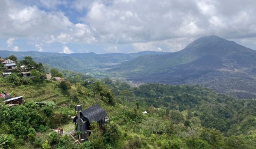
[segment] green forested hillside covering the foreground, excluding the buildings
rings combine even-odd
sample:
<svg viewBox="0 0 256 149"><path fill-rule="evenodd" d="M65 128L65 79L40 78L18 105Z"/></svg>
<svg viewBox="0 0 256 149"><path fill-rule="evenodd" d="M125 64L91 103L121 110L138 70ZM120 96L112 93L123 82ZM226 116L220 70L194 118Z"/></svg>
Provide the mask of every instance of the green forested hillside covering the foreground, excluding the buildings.
<svg viewBox="0 0 256 149"><path fill-rule="evenodd" d="M0 149L254 149L256 100L236 99L200 85L127 82L37 64L31 57L6 58L34 67L34 78L19 68L0 77L0 93L23 96L24 105L0 100ZM0 66L2 69L3 66ZM0 71L2 74L2 71ZM65 81L46 80L45 74ZM41 102L44 105L37 105ZM93 126L82 144L52 129L74 130L75 105L98 104L111 119L107 131ZM146 111L147 114L142 114Z"/></svg>

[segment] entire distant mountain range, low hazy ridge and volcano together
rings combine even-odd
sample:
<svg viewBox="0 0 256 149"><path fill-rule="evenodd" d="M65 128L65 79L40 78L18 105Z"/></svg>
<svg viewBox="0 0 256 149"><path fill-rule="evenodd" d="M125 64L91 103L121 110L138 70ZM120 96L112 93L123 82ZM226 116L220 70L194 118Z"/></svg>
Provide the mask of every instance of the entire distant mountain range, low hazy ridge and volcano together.
<svg viewBox="0 0 256 149"><path fill-rule="evenodd" d="M60 69L134 83L200 84L240 98L256 98L256 51L211 35L174 53L49 53L0 51L1 57L31 56Z"/></svg>

